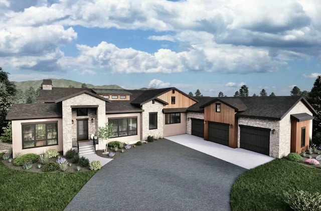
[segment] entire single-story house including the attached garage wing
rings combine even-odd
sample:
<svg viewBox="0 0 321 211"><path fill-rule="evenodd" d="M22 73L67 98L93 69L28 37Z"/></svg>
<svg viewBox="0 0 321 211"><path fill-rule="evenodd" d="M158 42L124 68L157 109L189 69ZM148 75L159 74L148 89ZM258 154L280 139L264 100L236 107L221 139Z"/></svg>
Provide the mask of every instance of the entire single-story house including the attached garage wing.
<svg viewBox="0 0 321 211"><path fill-rule="evenodd" d="M306 150L315 110L299 96L191 97L177 88L118 90L53 87L44 80L35 104L14 104L13 154L64 153L105 123L129 144L147 136L192 134L233 148L283 157ZM96 149L104 149L98 139Z"/></svg>

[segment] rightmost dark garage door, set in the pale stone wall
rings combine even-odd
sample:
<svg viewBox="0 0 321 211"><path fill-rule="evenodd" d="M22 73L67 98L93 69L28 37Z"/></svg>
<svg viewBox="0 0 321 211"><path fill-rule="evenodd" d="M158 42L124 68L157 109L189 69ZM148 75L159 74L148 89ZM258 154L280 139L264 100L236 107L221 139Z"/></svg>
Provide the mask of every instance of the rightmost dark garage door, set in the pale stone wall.
<svg viewBox="0 0 321 211"><path fill-rule="evenodd" d="M270 129L240 125L240 147L269 155Z"/></svg>

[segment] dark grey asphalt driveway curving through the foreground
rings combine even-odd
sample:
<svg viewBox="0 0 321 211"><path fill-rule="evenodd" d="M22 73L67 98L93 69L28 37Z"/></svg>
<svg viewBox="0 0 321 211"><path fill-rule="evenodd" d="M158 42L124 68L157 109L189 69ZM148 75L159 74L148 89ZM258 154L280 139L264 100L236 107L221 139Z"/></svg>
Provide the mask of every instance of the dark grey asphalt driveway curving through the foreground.
<svg viewBox="0 0 321 211"><path fill-rule="evenodd" d="M65 210L230 210L246 169L167 139L104 165Z"/></svg>

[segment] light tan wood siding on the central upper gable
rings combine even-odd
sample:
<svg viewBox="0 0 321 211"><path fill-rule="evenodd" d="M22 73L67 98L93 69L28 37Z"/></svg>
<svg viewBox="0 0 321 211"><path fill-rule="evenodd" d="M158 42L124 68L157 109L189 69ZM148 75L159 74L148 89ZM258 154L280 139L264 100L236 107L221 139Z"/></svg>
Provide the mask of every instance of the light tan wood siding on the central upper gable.
<svg viewBox="0 0 321 211"><path fill-rule="evenodd" d="M172 104L172 97L175 97L175 104ZM174 94L173 91L170 90L167 93L159 95L157 98L169 103L168 105L164 105L164 108L188 108L196 103L177 90L175 90Z"/></svg>

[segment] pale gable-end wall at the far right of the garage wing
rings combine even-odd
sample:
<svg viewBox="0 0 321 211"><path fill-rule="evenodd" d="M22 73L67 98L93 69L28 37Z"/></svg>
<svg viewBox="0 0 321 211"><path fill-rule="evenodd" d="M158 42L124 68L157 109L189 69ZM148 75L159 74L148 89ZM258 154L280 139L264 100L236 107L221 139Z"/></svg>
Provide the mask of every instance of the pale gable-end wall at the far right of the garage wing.
<svg viewBox="0 0 321 211"><path fill-rule="evenodd" d="M279 156L284 157L290 153L291 147L291 114L307 113L312 116L310 110L300 101L280 121L280 151ZM312 120L310 121L309 137L312 137Z"/></svg>

